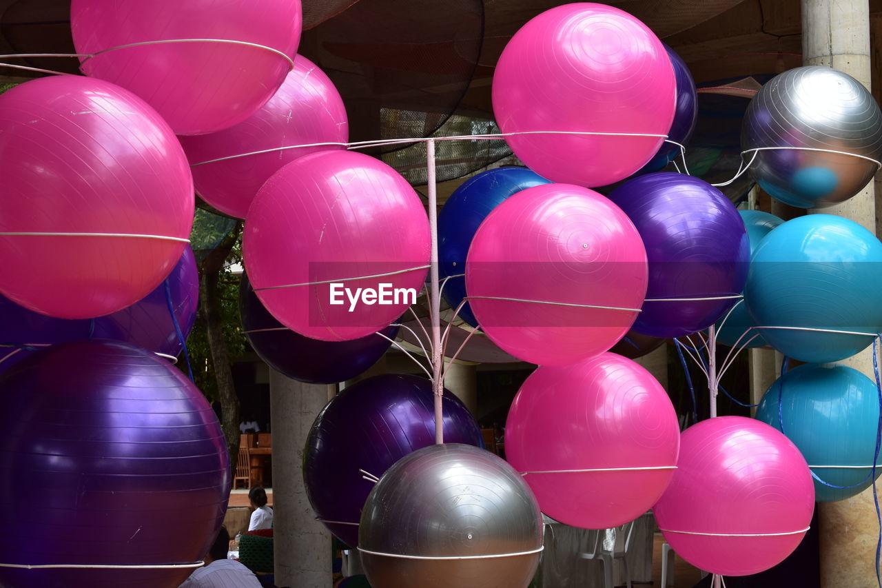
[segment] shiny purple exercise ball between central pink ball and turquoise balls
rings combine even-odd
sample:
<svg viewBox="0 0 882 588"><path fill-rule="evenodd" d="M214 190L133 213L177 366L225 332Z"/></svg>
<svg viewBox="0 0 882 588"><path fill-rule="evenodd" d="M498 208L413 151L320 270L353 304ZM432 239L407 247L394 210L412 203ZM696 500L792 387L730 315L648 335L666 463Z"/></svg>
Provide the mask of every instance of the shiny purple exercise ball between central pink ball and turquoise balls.
<svg viewBox="0 0 882 588"><path fill-rule="evenodd" d="M697 177L660 172L625 182L609 200L632 220L647 248L647 301L635 331L689 335L736 303L751 245L744 221L722 192Z"/></svg>

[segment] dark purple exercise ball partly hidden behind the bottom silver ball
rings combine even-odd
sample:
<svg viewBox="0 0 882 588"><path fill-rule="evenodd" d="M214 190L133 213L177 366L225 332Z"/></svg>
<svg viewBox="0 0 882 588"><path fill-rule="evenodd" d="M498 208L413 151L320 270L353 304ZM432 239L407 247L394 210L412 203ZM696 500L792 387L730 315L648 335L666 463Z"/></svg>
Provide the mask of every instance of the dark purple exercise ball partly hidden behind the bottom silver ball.
<svg viewBox="0 0 882 588"><path fill-rule="evenodd" d="M445 443L481 446L471 412L444 393ZM306 440L303 481L318 520L350 547L358 544L358 522L373 483L401 457L435 442L431 382L386 373L345 388L318 413Z"/></svg>

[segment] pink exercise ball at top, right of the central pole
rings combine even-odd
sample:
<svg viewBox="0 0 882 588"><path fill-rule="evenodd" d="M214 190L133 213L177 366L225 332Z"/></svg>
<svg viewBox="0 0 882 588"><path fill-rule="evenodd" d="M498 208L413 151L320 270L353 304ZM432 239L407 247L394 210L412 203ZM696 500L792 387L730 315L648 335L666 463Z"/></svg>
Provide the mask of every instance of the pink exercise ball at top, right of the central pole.
<svg viewBox="0 0 882 588"><path fill-rule="evenodd" d="M649 28L604 4L557 6L514 34L493 76L493 111L515 155L553 182L613 184L662 147L676 108L668 53Z"/></svg>

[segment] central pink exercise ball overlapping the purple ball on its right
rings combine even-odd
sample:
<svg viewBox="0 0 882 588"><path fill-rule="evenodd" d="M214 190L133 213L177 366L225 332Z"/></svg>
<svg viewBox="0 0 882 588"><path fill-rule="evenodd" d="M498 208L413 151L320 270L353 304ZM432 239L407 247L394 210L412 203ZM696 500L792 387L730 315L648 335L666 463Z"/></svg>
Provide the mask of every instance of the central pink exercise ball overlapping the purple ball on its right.
<svg viewBox="0 0 882 588"><path fill-rule="evenodd" d="M482 222L466 289L482 330L504 351L563 366L609 350L631 328L647 291L647 253L628 216L597 192L538 185Z"/></svg>

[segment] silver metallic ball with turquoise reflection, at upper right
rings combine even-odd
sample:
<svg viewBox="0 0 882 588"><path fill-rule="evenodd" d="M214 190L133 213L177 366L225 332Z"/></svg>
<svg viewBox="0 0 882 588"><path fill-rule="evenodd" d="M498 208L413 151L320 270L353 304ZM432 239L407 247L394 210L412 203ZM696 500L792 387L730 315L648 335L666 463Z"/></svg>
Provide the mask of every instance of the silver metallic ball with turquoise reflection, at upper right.
<svg viewBox="0 0 882 588"><path fill-rule="evenodd" d="M754 96L744 114L741 147L748 152L745 162L756 154L750 173L773 198L795 207L826 207L860 192L876 173L871 160L882 158L882 112L848 74L797 67ZM749 151L758 147L802 148Z"/></svg>

